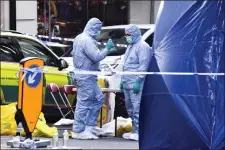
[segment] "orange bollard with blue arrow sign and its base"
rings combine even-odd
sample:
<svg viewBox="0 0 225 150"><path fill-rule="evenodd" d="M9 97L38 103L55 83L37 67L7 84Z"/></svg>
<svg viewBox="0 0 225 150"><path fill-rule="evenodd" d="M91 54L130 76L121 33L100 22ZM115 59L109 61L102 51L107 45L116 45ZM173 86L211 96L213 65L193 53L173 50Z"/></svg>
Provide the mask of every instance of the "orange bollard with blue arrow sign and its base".
<svg viewBox="0 0 225 150"><path fill-rule="evenodd" d="M43 68L44 60L35 57L29 57L20 61L20 67L23 68ZM18 101L16 106L15 121L18 126L22 123L25 132L25 140L18 142L24 142L27 139L32 140L32 133L37 126L37 122L42 110L43 102L43 73L42 72L19 72L19 90ZM19 136L20 133L17 133ZM14 141L7 142L8 146L13 146ZM36 140L33 144L28 144L28 147L35 146L47 147L51 142L49 140ZM18 145L17 145L18 146Z"/></svg>

